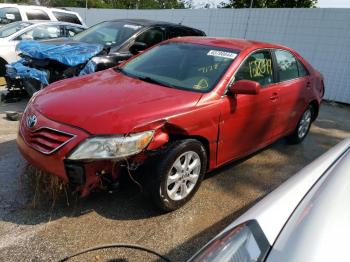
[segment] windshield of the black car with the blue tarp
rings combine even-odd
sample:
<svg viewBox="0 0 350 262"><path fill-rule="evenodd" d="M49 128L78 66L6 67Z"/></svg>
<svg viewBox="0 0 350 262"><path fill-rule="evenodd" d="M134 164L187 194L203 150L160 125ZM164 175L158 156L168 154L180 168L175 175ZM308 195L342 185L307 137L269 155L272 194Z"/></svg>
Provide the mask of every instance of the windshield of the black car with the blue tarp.
<svg viewBox="0 0 350 262"><path fill-rule="evenodd" d="M125 22L103 22L77 34L74 40L102 45L121 45L142 26Z"/></svg>

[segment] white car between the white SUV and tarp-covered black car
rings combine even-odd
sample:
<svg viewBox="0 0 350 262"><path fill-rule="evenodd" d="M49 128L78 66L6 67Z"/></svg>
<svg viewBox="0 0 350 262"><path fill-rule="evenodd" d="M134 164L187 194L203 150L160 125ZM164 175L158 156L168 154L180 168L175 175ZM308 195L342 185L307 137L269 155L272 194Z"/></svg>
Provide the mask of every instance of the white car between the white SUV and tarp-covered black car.
<svg viewBox="0 0 350 262"><path fill-rule="evenodd" d="M14 22L0 28L0 77L5 76L8 63L20 59L16 45L22 40L43 40L72 37L86 29L85 26L48 21Z"/></svg>

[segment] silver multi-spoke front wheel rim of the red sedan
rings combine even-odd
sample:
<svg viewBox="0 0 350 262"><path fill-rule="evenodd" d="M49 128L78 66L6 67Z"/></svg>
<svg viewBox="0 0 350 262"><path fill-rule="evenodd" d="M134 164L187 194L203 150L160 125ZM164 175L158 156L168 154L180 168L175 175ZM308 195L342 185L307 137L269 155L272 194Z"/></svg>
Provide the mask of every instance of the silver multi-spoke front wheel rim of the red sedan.
<svg viewBox="0 0 350 262"><path fill-rule="evenodd" d="M186 198L198 182L201 160L194 151L180 155L170 168L167 177L167 193L170 199L178 201Z"/></svg>

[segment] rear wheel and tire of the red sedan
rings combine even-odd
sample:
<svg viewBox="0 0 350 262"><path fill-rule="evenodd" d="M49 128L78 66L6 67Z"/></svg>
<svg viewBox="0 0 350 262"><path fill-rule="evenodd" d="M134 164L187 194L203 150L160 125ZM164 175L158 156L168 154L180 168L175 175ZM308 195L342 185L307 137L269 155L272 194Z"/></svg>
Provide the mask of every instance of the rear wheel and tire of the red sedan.
<svg viewBox="0 0 350 262"><path fill-rule="evenodd" d="M309 105L301 115L293 133L287 136L287 142L289 144L299 144L305 139L311 127L313 114L313 107Z"/></svg>

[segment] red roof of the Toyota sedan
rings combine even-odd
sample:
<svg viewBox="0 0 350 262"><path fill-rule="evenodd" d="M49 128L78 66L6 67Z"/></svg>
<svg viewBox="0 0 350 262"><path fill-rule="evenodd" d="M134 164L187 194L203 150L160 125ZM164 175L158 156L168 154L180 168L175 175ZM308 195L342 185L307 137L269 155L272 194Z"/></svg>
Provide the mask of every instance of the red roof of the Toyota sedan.
<svg viewBox="0 0 350 262"><path fill-rule="evenodd" d="M243 51L246 49L259 49L259 48L277 48L277 49L290 50L290 48L286 46L278 45L278 44L271 44L271 43L246 40L246 39L224 38L224 37L188 36L188 37L181 37L181 38L173 38L169 41L217 46L217 47L223 47L223 48L230 48L237 51Z"/></svg>

